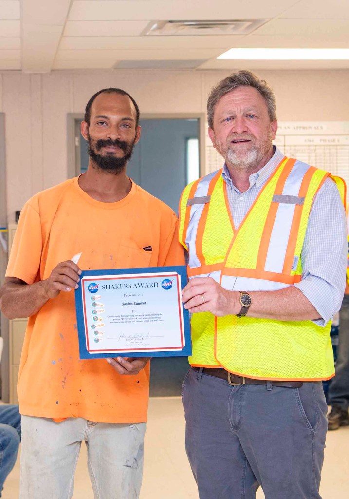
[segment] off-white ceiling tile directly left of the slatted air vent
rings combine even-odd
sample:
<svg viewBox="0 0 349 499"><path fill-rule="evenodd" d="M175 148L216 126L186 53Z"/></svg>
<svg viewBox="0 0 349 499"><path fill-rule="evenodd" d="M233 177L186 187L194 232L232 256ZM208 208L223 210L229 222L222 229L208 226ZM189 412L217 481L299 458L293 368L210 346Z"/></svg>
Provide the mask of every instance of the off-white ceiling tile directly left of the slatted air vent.
<svg viewBox="0 0 349 499"><path fill-rule="evenodd" d="M137 36L148 21L68 21L64 36Z"/></svg>

